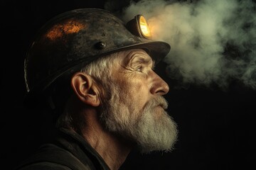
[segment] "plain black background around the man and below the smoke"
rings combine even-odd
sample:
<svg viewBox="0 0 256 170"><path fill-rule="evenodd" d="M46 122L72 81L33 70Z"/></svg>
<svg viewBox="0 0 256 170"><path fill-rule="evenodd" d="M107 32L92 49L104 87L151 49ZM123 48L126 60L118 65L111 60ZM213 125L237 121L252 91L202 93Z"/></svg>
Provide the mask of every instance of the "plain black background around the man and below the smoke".
<svg viewBox="0 0 256 170"><path fill-rule="evenodd" d="M53 136L50 115L23 106L23 60L31 38L48 19L73 8L104 8L105 1L1 1L1 169L13 169ZM122 1L113 11L129 4ZM176 149L141 155L122 169L254 169L256 92L233 80L228 91L172 88L164 63L156 71L170 85L169 113L178 123ZM2 168L5 167L5 168Z"/></svg>

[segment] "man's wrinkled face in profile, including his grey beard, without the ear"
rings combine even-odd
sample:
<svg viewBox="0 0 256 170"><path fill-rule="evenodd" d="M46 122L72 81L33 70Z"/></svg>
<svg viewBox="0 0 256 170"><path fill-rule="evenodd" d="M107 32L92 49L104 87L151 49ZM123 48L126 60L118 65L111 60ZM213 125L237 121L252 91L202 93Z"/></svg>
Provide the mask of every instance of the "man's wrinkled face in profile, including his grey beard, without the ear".
<svg viewBox="0 0 256 170"><path fill-rule="evenodd" d="M114 60L112 78L105 82L110 100L103 101L103 122L111 132L137 143L142 152L171 150L176 123L166 113L162 97L169 86L154 72L144 50L128 50Z"/></svg>

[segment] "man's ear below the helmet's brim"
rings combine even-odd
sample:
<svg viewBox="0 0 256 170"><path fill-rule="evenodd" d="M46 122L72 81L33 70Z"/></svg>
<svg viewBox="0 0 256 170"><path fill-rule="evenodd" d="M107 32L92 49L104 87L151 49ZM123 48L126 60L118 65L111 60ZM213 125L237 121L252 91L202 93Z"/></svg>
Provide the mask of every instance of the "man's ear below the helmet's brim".
<svg viewBox="0 0 256 170"><path fill-rule="evenodd" d="M99 106L100 100L96 93L95 82L89 74L77 72L71 78L71 86L80 101L90 106Z"/></svg>

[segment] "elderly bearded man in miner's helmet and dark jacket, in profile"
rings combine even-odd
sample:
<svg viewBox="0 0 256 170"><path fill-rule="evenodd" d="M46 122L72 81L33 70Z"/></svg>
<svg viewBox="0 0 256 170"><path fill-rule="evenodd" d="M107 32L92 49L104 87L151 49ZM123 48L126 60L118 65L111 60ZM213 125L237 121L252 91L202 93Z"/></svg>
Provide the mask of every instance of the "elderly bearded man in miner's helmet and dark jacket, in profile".
<svg viewBox="0 0 256 170"><path fill-rule="evenodd" d="M18 169L119 169L134 147L171 151L169 86L154 72L170 46L142 26L140 15L125 25L108 11L80 8L39 30L24 65L26 104L47 101L59 132Z"/></svg>

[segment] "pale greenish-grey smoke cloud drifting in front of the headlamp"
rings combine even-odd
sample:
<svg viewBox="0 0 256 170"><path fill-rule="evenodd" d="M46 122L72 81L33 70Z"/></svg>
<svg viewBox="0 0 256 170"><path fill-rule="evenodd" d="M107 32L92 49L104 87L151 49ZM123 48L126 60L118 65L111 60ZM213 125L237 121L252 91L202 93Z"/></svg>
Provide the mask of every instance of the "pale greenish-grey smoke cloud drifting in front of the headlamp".
<svg viewBox="0 0 256 170"><path fill-rule="evenodd" d="M250 0L131 1L122 18L142 14L153 39L169 42L171 79L223 88L236 79L256 89L255 7Z"/></svg>

